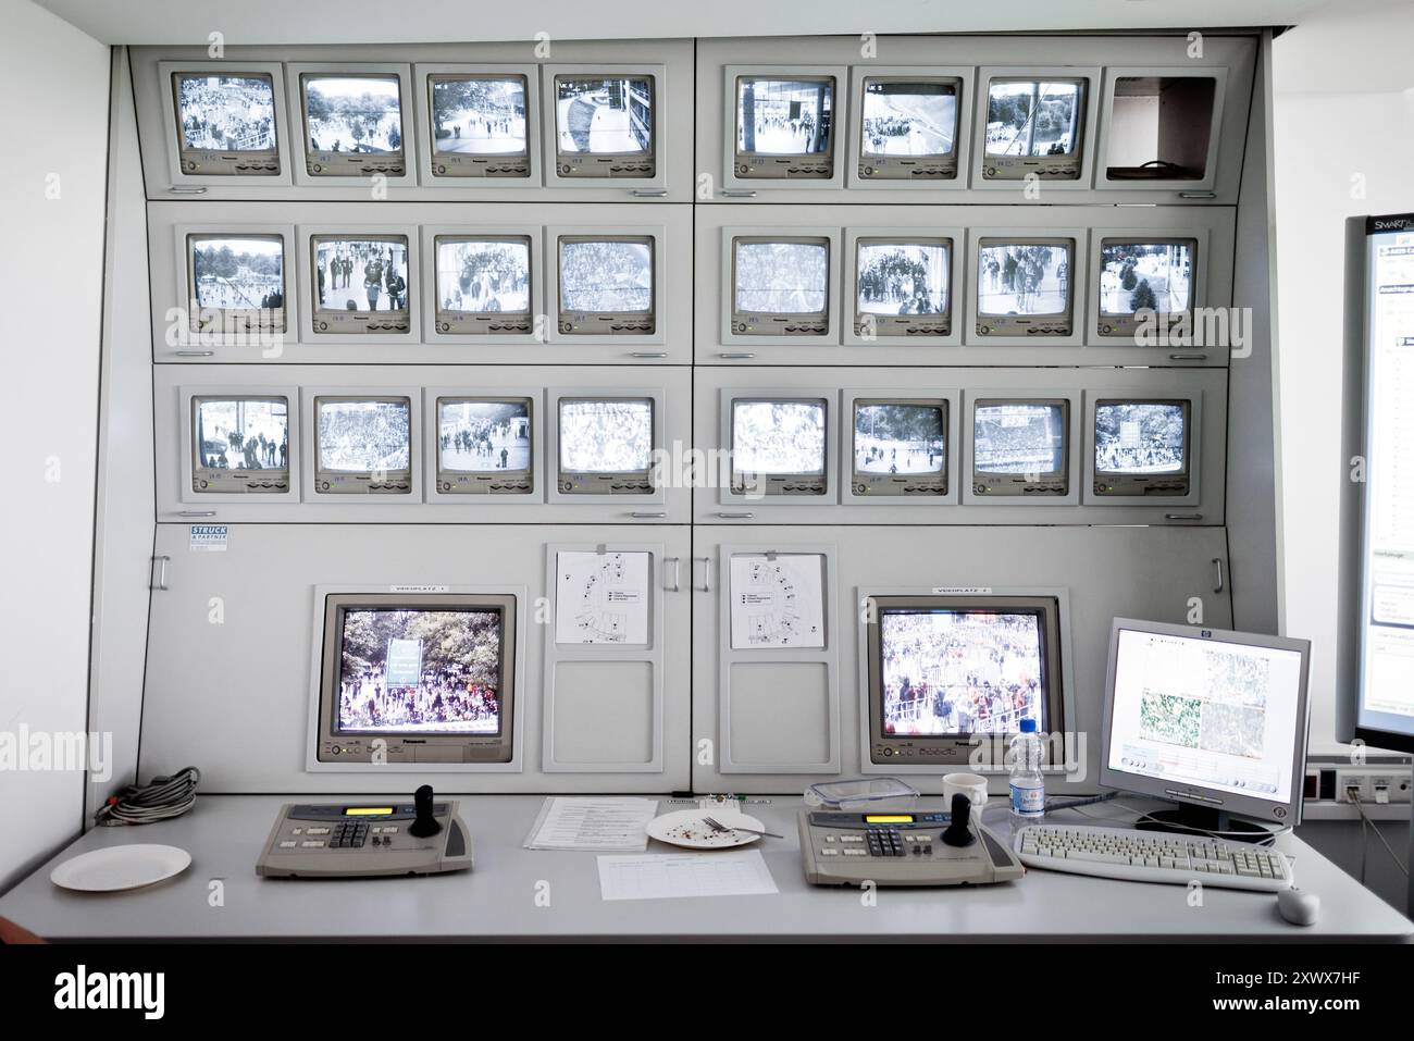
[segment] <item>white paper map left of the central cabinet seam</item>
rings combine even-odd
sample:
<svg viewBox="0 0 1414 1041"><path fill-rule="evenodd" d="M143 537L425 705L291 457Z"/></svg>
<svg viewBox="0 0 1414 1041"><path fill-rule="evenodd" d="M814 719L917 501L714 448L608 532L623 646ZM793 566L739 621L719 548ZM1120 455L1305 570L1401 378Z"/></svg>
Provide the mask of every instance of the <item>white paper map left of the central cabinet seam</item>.
<svg viewBox="0 0 1414 1041"><path fill-rule="evenodd" d="M556 554L556 644L648 644L648 553Z"/></svg>

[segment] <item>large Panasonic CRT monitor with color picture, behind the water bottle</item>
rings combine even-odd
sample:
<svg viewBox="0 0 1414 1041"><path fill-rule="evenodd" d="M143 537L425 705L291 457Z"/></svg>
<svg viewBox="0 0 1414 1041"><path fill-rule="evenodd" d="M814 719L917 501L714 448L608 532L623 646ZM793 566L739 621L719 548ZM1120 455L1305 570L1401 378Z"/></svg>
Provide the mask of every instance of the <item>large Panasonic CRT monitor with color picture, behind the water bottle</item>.
<svg viewBox="0 0 1414 1041"><path fill-rule="evenodd" d="M954 765L977 737L1065 730L1060 604L1048 595L870 595L870 761ZM1056 764L1059 765L1059 764Z"/></svg>

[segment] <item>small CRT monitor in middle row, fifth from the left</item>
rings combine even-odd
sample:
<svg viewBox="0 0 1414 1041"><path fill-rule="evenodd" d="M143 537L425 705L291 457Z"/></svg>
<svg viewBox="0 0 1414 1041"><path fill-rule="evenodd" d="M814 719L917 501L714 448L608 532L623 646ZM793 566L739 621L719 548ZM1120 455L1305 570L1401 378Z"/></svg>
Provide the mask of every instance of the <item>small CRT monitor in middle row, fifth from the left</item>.
<svg viewBox="0 0 1414 1041"><path fill-rule="evenodd" d="M731 240L731 331L823 337L830 331L830 240L751 236Z"/></svg>

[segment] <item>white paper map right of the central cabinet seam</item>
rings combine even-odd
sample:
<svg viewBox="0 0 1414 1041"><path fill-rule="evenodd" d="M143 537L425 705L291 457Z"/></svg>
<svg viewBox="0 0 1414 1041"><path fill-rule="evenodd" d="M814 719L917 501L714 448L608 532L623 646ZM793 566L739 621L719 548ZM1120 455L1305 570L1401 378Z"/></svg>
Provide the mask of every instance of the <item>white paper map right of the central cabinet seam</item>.
<svg viewBox="0 0 1414 1041"><path fill-rule="evenodd" d="M731 646L824 646L824 557L819 553L731 557Z"/></svg>

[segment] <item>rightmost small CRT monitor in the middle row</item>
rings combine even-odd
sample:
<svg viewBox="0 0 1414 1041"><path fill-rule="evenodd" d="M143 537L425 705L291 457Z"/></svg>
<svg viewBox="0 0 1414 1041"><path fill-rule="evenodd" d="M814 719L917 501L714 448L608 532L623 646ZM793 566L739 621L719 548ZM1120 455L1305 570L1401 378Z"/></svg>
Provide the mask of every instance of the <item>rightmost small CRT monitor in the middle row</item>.
<svg viewBox="0 0 1414 1041"><path fill-rule="evenodd" d="M1102 337L1133 337L1148 321L1168 328L1193 308L1193 239L1102 239Z"/></svg>

